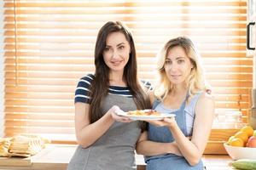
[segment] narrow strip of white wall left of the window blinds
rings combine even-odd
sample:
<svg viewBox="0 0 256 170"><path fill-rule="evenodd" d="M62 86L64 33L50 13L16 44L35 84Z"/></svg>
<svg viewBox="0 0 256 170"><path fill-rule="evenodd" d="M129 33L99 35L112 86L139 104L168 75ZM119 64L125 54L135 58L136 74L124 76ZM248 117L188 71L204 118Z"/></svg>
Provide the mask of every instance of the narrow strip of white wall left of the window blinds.
<svg viewBox="0 0 256 170"><path fill-rule="evenodd" d="M0 137L3 137L3 1L0 0Z"/></svg>

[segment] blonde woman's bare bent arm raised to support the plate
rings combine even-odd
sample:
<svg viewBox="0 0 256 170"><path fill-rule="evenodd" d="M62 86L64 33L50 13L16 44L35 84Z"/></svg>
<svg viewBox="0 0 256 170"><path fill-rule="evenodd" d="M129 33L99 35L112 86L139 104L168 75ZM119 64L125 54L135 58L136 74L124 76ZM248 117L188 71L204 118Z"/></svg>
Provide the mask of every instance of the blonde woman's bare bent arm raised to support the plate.
<svg viewBox="0 0 256 170"><path fill-rule="evenodd" d="M213 116L214 101L212 96L207 93L202 94L195 106L195 122L191 141L183 135L175 121L166 119L166 122L170 121L169 128L178 149L191 166L195 166L201 160L211 133Z"/></svg>

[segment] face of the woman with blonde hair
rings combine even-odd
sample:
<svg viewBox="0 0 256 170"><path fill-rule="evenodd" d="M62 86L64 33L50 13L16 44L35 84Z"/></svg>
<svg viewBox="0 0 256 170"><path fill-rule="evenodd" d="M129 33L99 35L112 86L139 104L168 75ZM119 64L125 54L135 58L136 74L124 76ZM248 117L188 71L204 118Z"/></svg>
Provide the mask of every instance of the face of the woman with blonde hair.
<svg viewBox="0 0 256 170"><path fill-rule="evenodd" d="M173 84L183 84L194 66L182 47L169 50L165 61L166 76Z"/></svg>

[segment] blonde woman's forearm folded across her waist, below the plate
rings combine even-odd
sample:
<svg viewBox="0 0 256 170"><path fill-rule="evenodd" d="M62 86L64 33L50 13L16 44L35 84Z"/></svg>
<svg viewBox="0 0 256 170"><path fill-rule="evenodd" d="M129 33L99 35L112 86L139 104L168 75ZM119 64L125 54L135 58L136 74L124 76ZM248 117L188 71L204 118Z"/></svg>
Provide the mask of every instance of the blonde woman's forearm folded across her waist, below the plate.
<svg viewBox="0 0 256 170"><path fill-rule="evenodd" d="M148 132L143 132L136 144L137 154L144 156L158 156L162 154L176 154L181 156L175 142L172 143L158 143L148 140Z"/></svg>

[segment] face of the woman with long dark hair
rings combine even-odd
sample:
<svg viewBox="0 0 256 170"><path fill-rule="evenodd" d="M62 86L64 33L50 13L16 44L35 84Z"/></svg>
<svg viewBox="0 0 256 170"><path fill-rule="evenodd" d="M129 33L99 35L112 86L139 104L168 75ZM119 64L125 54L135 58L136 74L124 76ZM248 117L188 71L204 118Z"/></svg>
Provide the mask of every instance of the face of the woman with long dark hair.
<svg viewBox="0 0 256 170"><path fill-rule="evenodd" d="M130 51L130 44L123 33L110 33L103 51L103 59L110 71L124 71L125 65L129 60Z"/></svg>

